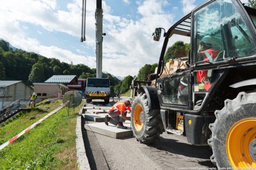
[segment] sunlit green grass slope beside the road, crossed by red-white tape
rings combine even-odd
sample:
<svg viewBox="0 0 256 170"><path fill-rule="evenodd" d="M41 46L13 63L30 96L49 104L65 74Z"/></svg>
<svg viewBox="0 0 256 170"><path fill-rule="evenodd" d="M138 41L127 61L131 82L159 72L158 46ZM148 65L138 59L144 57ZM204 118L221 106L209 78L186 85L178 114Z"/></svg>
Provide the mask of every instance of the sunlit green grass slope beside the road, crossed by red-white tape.
<svg viewBox="0 0 256 170"><path fill-rule="evenodd" d="M62 102L21 112L0 127L0 144L43 118ZM75 113L79 113L79 107ZM0 169L78 169L76 159L76 117L67 107L51 115L27 134L0 151Z"/></svg>

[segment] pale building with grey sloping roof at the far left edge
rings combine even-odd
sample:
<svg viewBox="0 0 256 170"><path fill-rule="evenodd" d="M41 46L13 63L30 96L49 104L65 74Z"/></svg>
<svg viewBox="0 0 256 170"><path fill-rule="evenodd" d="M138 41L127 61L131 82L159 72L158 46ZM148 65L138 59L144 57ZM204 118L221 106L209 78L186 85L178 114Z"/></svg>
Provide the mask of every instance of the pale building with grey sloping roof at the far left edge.
<svg viewBox="0 0 256 170"><path fill-rule="evenodd" d="M0 81L0 110L18 99L28 99L32 93L22 81Z"/></svg>

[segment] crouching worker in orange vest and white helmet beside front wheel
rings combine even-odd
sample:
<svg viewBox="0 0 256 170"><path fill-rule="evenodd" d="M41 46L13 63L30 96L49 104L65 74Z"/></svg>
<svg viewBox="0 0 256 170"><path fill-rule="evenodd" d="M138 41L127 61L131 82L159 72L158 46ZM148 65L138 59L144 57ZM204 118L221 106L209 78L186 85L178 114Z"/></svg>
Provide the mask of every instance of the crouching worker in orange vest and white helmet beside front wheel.
<svg viewBox="0 0 256 170"><path fill-rule="evenodd" d="M131 111L131 104L133 103L133 99L128 97L125 101L115 103L108 112L108 115L105 117L105 124L108 126L109 123L117 126L117 128L124 128L123 122L131 121L131 118L126 117L127 111ZM121 115L121 117L120 117ZM109 123L108 123L109 122Z"/></svg>

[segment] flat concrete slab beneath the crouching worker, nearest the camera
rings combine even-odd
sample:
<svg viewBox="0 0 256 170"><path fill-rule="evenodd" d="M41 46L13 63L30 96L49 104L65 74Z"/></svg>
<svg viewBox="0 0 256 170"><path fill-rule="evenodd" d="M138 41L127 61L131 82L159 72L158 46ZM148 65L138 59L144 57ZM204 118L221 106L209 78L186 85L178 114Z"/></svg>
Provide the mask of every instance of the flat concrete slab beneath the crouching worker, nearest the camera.
<svg viewBox="0 0 256 170"><path fill-rule="evenodd" d="M91 123L85 124L85 129L88 131L93 131L98 134L109 136L111 138L125 138L133 136L133 130L131 130L130 123L123 123L124 126L127 126L127 129L117 128L116 126L109 124L106 126L104 122L101 123Z"/></svg>

